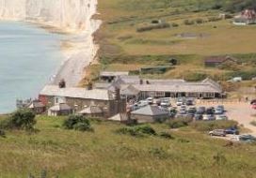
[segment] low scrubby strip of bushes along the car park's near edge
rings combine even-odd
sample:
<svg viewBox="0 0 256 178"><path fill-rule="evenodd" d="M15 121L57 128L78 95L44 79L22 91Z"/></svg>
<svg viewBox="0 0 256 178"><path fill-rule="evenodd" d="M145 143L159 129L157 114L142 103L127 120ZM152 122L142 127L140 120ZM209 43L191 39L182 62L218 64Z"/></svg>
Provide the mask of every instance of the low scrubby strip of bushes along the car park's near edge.
<svg viewBox="0 0 256 178"><path fill-rule="evenodd" d="M237 127L238 123L236 121L199 121L192 123L191 126L198 131L211 131L213 129Z"/></svg>

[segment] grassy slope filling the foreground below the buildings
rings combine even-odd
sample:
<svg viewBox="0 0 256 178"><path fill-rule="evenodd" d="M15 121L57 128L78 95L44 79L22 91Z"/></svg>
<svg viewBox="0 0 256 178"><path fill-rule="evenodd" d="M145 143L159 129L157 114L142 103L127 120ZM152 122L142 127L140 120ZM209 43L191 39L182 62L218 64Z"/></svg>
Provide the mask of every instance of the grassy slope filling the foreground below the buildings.
<svg viewBox="0 0 256 178"><path fill-rule="evenodd" d="M255 145L223 146L193 131L176 131L175 140L132 138L114 133L119 124L93 123L94 133L63 130L62 118L39 117L40 132L7 133L0 139L0 177L254 177ZM158 132L167 129L153 125ZM184 141L185 138L185 141ZM189 142L186 142L189 141ZM216 161L214 156L225 159Z"/></svg>

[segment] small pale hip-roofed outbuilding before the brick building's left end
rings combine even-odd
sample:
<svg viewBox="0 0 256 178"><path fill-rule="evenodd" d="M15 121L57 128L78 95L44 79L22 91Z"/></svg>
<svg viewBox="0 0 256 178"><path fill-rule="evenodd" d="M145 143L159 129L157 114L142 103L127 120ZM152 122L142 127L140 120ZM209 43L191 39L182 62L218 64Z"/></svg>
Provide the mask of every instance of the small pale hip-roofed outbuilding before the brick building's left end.
<svg viewBox="0 0 256 178"><path fill-rule="evenodd" d="M49 116L61 116L61 115L70 115L72 114L72 107L66 103L58 103L55 106L51 107L48 110Z"/></svg>

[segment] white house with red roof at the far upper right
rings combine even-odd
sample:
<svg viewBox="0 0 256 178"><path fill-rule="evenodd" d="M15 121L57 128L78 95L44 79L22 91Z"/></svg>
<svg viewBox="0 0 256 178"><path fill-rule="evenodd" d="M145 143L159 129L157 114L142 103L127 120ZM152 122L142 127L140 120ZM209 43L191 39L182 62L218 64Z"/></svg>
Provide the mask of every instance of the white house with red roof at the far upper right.
<svg viewBox="0 0 256 178"><path fill-rule="evenodd" d="M246 9L234 17L233 24L248 25L256 23L256 12L253 9Z"/></svg>

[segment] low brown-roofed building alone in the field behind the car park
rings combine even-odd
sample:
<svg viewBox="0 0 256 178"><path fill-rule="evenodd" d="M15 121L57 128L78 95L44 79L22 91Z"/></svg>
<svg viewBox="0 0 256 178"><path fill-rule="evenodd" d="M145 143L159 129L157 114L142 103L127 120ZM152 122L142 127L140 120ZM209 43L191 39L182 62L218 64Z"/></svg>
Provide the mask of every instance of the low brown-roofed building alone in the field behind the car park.
<svg viewBox="0 0 256 178"><path fill-rule="evenodd" d="M204 59L205 67L218 67L225 63L237 64L237 59L231 56L210 56Z"/></svg>

